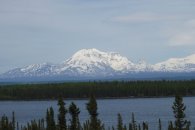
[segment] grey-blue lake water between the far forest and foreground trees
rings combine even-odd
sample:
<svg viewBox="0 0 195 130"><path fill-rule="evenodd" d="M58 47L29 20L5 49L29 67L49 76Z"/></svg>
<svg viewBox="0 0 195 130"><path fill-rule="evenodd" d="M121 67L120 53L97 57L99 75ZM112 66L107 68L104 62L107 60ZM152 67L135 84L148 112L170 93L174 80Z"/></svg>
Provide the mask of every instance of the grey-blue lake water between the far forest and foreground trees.
<svg viewBox="0 0 195 130"><path fill-rule="evenodd" d="M66 107L71 102L75 102L80 108L80 121L88 119L86 103L88 100L65 100ZM158 128L158 119L163 124L163 129L167 128L168 121L173 120L172 104L174 98L132 98L132 99L101 99L97 100L99 118L105 126L116 126L117 114L120 113L124 123L131 121L131 113L135 114L137 122L147 121L149 128ZM195 126L195 97L185 97L186 117ZM12 111L15 112L16 120L20 124L25 124L32 119L44 118L46 109L52 106L57 118L57 101L1 101L0 116L6 114L11 117Z"/></svg>

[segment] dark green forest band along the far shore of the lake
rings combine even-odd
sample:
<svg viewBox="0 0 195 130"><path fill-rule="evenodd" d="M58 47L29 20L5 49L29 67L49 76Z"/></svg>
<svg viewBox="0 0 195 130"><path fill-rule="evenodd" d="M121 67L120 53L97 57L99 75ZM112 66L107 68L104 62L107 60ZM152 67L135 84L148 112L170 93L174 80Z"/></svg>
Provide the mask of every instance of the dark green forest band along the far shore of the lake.
<svg viewBox="0 0 195 130"><path fill-rule="evenodd" d="M163 97L181 93L195 96L195 80L192 81L113 81L48 84L19 84L0 86L0 100L42 100L87 98L93 93L97 98Z"/></svg>

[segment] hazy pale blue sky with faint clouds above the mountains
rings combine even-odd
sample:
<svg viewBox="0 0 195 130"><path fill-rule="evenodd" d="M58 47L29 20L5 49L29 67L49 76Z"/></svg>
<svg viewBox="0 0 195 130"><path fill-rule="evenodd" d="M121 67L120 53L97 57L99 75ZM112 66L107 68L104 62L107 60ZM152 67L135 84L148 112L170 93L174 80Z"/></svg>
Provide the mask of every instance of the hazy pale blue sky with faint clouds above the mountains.
<svg viewBox="0 0 195 130"><path fill-rule="evenodd" d="M195 53L194 0L0 0L0 73L83 48L157 63Z"/></svg>

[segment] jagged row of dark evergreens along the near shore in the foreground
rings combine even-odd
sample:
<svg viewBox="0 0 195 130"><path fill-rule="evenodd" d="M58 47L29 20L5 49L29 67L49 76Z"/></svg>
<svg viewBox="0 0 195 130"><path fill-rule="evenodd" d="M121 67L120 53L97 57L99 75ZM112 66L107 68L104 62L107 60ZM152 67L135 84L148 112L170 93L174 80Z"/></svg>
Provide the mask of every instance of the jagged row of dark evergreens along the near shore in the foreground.
<svg viewBox="0 0 195 130"><path fill-rule="evenodd" d="M98 106L94 96L91 96L86 109L89 114L89 119L83 124L80 123L80 109L74 102L66 107L62 98L58 100L58 118L54 118L54 110L52 107L46 111L46 117L38 121L32 120L26 126L19 126L16 123L15 114L11 121L4 115L0 120L0 130L150 130L147 122L137 123L132 113L132 119L129 124L123 124L123 119L120 113L118 114L118 123L115 126L105 127L104 123L98 118ZM175 121L169 121L167 128L163 128L159 119L157 130L190 130L190 121L185 119L186 106L183 103L181 96L176 96L172 106ZM69 114L69 116L67 116Z"/></svg>

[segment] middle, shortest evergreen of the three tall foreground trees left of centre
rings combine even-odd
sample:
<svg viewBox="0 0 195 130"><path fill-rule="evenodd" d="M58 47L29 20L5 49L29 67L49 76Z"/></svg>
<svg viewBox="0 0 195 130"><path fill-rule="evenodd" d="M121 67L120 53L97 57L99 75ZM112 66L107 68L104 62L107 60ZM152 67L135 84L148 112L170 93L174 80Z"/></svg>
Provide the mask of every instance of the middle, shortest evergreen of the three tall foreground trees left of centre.
<svg viewBox="0 0 195 130"><path fill-rule="evenodd" d="M70 130L80 130L79 122L79 108L72 102L69 107L69 113L71 115Z"/></svg>

